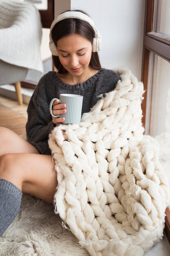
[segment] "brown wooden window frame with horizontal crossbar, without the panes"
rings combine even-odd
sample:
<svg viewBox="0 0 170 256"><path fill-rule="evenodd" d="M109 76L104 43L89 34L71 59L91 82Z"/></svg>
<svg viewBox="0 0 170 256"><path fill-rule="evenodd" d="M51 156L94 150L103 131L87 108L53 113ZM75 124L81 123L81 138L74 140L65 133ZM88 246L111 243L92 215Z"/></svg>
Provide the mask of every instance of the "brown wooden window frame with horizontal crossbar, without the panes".
<svg viewBox="0 0 170 256"><path fill-rule="evenodd" d="M150 52L153 52L170 62L170 37L152 31L153 24L156 22L154 16L154 6L157 7L159 0L145 1L145 19L144 19L144 41L142 54L142 70L141 81L144 83L144 100L142 102L143 118L142 122L146 124L146 103L147 103L147 88L149 79ZM170 207L166 208L165 233L170 243Z"/></svg>

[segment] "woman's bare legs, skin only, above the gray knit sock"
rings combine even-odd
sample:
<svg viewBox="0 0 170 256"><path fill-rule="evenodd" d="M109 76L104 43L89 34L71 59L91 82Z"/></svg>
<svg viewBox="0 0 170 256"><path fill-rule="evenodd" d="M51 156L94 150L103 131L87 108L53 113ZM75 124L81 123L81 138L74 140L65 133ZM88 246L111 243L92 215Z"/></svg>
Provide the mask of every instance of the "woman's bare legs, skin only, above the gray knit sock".
<svg viewBox="0 0 170 256"><path fill-rule="evenodd" d="M40 155L34 146L4 127L0 127L0 144L0 178L53 203L57 174L52 157Z"/></svg>

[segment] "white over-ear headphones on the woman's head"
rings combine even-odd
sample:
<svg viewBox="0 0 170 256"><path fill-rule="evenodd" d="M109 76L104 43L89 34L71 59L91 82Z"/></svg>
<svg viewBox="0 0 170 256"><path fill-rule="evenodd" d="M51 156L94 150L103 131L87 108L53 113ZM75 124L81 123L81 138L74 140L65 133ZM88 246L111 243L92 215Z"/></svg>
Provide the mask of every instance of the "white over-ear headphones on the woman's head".
<svg viewBox="0 0 170 256"><path fill-rule="evenodd" d="M59 16L57 16L57 18L55 18L55 20L53 20L53 23L51 24L50 34L49 34L49 38L50 38L49 48L50 48L52 54L54 56L58 56L57 47L51 37L51 31L57 22L67 19L67 18L76 18L79 20L84 20L91 25L91 27L93 28L93 30L95 32L95 37L93 38L93 43L92 43L92 51L98 52L101 49L101 35L100 35L99 31L97 30L94 21L89 16L87 16L86 14L84 14L80 11L66 11L66 12L60 14Z"/></svg>

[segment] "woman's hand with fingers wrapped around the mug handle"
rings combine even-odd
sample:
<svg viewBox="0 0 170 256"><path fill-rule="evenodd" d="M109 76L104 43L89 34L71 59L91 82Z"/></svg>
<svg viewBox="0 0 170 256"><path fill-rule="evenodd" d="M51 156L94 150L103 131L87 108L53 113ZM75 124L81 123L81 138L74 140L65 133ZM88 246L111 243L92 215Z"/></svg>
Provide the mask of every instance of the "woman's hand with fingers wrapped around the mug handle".
<svg viewBox="0 0 170 256"><path fill-rule="evenodd" d="M53 102L53 115L61 115L66 113L66 104L59 104L59 100L56 99ZM59 125L64 121L64 117L52 117L53 123Z"/></svg>

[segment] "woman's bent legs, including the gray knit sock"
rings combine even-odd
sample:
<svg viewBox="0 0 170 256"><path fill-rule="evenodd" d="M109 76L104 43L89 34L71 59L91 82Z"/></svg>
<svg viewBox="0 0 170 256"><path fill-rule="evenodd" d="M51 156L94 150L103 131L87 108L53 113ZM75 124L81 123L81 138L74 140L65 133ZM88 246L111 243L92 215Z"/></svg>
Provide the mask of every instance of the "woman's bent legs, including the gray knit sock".
<svg viewBox="0 0 170 256"><path fill-rule="evenodd" d="M0 236L20 210L22 192L53 204L57 173L50 155L0 127Z"/></svg>

